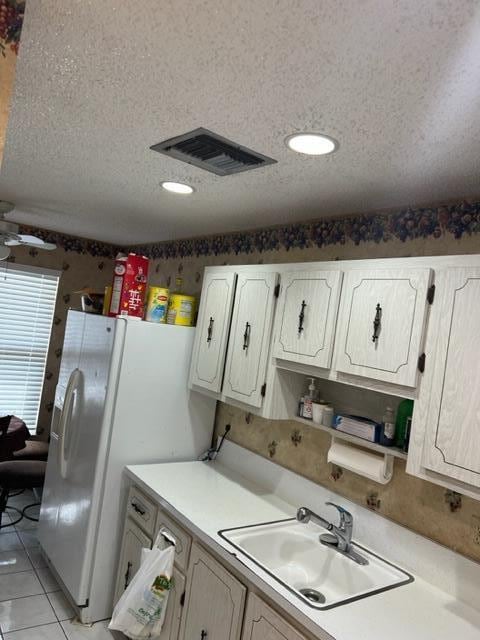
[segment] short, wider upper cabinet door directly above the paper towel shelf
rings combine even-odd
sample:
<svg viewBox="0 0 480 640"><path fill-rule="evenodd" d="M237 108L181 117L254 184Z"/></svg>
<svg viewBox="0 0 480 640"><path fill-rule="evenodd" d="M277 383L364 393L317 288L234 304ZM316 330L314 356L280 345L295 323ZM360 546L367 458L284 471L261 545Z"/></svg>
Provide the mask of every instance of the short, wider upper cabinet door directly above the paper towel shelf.
<svg viewBox="0 0 480 640"><path fill-rule="evenodd" d="M336 341L337 370L415 387L431 277L430 269L346 273Z"/></svg>

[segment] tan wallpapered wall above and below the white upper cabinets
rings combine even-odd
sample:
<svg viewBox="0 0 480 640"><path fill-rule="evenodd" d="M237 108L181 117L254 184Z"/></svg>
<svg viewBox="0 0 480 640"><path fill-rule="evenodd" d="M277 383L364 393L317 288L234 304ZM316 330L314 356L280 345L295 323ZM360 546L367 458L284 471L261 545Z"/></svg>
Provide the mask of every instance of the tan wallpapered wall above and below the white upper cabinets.
<svg viewBox="0 0 480 640"><path fill-rule="evenodd" d="M168 285L175 282L175 277L180 274L184 278L185 291L198 293L201 290L203 269L209 265L468 253L480 253L479 234L465 235L461 240L455 240L451 235L442 235L438 239L416 239L407 242L391 240L380 244L362 243L358 246L347 243L324 249L186 257L153 261L150 284ZM273 453L271 459L274 462L480 561L480 502L462 497L460 508L452 511L449 502L452 496L449 497L439 486L406 474L405 465L400 460L395 463L394 479L385 486L348 471L334 480L331 475L332 467L326 461L329 446L327 434L290 421L253 417L248 424L246 417L244 411L219 403L217 432L230 423L230 438L237 444L266 458L270 458ZM456 498L453 496L454 501Z"/></svg>

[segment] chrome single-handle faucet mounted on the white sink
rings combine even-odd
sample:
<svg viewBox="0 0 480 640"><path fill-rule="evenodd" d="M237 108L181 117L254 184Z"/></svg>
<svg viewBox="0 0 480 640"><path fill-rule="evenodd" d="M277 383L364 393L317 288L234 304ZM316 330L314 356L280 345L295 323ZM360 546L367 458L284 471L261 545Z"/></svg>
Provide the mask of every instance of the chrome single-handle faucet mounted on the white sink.
<svg viewBox="0 0 480 640"><path fill-rule="evenodd" d="M340 514L340 525L337 527L333 523L325 520L322 516L317 515L307 507L300 507L297 511L297 520L307 524L312 520L320 526L324 527L331 533L323 533L320 535L320 542L326 547L330 547L338 553L361 565L368 564L368 560L361 556L353 549L352 533L353 533L353 516L346 509L334 502L326 502L325 504L335 507Z"/></svg>

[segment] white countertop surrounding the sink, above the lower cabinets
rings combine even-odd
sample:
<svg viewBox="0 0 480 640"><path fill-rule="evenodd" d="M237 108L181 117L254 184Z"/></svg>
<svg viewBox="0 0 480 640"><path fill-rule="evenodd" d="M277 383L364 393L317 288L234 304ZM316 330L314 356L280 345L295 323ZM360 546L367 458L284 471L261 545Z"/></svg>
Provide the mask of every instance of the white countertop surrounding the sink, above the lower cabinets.
<svg viewBox="0 0 480 640"><path fill-rule="evenodd" d="M229 458L232 460L232 456L237 458L242 456L242 452L237 451L239 449L240 447L228 443L227 460ZM255 465L272 464L254 454L246 453L245 455L250 458L249 477ZM294 517L300 504L309 504L305 496L303 496L303 502L296 502L295 505L292 501L287 502L280 497L278 495L280 482L272 487L268 486L267 482L258 484L258 478L256 478L257 482L247 480L238 472L238 469L233 470L230 466L225 466L223 457L222 460L219 459L214 463L177 462L136 465L127 467L127 473L180 524L189 529L205 546L219 554L225 564L235 567L237 572L263 590L271 600L314 635L321 636L321 631L324 630L336 640L452 640L454 637L462 640L479 640L480 638L480 611L456 597L452 593L451 584L448 590L440 589L419 577L411 567L399 563L398 554L395 557L395 554L385 553L384 550L382 553L377 545L373 550L413 573L414 582L326 611L314 610L302 603L241 554L239 554L242 558L240 562L232 555L235 550L218 535L218 531ZM290 477L294 475L285 470L281 470L280 473L282 477L285 474L287 476L290 474ZM312 486L312 483L304 479L301 482ZM316 485L313 487L319 491ZM347 502L342 498L337 500L342 504ZM378 516L376 519L383 521L383 518ZM401 529L391 523L388 523L388 526ZM384 524L379 527L381 534L384 527ZM408 532L407 535L415 534ZM354 538L356 538L355 529ZM364 544L363 541L362 544ZM429 541L428 544L434 545ZM439 545L434 545L433 551L429 550L430 555L435 555L436 547ZM411 551L411 549L407 550L410 555ZM440 555L436 558L437 562L441 561L443 557L441 554L451 552L439 547L438 553ZM459 564L468 563L460 556L458 559ZM432 561L435 561L435 558ZM470 564L472 566L468 567L465 573L464 588L465 586L468 588L472 575L473 579L480 583L480 567L475 563ZM437 569L432 567L432 571ZM458 581L458 575L447 575L450 582ZM458 585L459 593L461 593L461 587L462 585Z"/></svg>

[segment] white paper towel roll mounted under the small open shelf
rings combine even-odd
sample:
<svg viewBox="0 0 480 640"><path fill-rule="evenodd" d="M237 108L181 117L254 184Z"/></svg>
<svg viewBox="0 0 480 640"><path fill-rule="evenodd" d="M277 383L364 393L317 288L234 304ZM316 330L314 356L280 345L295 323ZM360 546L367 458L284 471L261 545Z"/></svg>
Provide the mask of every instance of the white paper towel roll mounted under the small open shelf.
<svg viewBox="0 0 480 640"><path fill-rule="evenodd" d="M376 455L332 438L327 455L328 462L348 469L380 484L390 482L393 475L393 456Z"/></svg>

